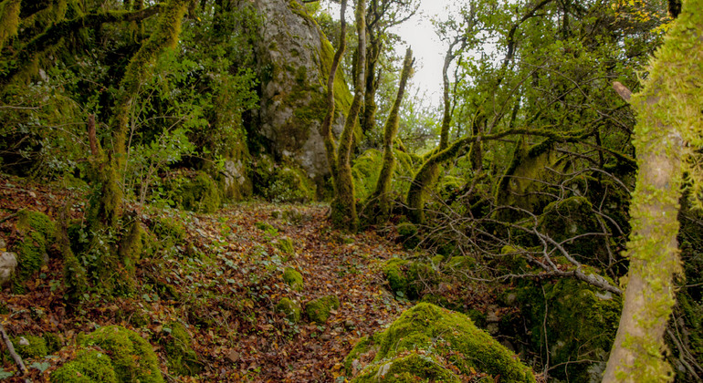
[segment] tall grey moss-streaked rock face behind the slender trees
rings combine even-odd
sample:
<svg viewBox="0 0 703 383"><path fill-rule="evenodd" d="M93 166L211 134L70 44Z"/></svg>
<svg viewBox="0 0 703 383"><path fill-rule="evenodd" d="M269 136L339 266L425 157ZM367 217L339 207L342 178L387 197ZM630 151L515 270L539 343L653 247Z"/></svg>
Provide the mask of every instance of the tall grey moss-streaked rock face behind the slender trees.
<svg viewBox="0 0 703 383"><path fill-rule="evenodd" d="M318 181L329 174L320 125L325 116L327 78L334 55L320 27L294 0L253 0L262 16L256 55L261 77L259 132L276 154L299 164ZM352 95L341 71L335 82L341 132Z"/></svg>

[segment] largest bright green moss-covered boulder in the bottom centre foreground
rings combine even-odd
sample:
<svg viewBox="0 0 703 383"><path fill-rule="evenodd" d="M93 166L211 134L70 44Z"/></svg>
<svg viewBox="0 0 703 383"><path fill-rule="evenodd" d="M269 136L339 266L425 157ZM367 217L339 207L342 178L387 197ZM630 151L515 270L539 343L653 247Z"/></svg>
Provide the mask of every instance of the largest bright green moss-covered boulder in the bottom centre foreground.
<svg viewBox="0 0 703 383"><path fill-rule="evenodd" d="M366 353L375 357L360 366L352 382L460 381L457 375L475 377L477 372L501 381L535 382L530 368L471 319L431 304L415 305L360 345L350 354L356 362L348 357L345 366L359 366Z"/></svg>

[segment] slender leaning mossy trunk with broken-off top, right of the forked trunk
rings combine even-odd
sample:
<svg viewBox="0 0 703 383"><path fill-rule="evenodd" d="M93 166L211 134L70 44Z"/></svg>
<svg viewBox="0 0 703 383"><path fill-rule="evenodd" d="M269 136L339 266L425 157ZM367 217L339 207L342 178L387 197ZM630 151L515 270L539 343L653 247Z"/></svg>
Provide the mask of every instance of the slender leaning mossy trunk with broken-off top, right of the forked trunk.
<svg viewBox="0 0 703 383"><path fill-rule="evenodd" d="M391 213L390 191L391 181L393 180L393 171L395 170L393 142L395 141L395 136L398 134L398 125L400 121L398 118L398 111L400 110L401 103L403 102L405 85L413 72L413 63L413 51L408 47L405 51L403 71L401 72L400 84L398 86L398 94L395 97L395 101L393 101L391 114L385 121L385 127L383 129L383 167L381 168L381 174L379 175L378 182L376 183L376 189L373 191L371 197L372 200L378 201L379 213L376 217L377 222L385 222Z"/></svg>

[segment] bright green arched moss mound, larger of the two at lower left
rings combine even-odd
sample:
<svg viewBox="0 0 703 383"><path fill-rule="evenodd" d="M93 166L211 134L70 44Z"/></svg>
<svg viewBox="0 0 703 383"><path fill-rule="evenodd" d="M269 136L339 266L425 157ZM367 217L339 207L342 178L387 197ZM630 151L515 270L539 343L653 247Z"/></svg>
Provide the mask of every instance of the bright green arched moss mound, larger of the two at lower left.
<svg viewBox="0 0 703 383"><path fill-rule="evenodd" d="M162 383L159 361L152 346L139 334L122 326L100 327L79 340L83 346L99 346L110 355L120 381Z"/></svg>

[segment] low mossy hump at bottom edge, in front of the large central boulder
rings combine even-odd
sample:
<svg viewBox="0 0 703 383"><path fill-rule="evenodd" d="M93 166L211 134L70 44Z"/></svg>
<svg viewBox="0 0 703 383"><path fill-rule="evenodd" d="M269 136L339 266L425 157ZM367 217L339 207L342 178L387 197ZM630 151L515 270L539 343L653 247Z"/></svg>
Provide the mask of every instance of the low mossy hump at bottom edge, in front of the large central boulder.
<svg viewBox="0 0 703 383"><path fill-rule="evenodd" d="M451 369L442 366L435 357L420 355L416 352L375 364L364 369L362 374L352 379L352 383L414 383L424 381L461 382Z"/></svg>

